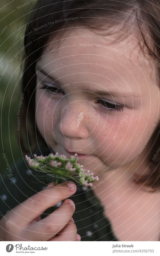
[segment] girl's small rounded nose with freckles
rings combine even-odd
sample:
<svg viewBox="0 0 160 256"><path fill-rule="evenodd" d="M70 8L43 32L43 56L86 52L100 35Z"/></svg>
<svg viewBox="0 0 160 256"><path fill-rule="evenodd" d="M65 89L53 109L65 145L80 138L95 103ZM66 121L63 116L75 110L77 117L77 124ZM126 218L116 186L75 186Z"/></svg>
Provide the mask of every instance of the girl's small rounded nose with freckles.
<svg viewBox="0 0 160 256"><path fill-rule="evenodd" d="M86 108L82 104L72 102L59 115L58 128L63 136L72 139L84 139L88 136Z"/></svg>

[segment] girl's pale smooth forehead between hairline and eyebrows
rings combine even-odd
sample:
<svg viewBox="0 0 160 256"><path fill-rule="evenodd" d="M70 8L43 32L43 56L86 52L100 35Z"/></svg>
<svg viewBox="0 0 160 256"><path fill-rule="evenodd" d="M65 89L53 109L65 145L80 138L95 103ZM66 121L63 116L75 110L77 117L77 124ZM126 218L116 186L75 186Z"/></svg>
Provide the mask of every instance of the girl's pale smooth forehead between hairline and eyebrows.
<svg viewBox="0 0 160 256"><path fill-rule="evenodd" d="M106 81L122 85L123 77L134 92L140 87L146 90L144 87L152 83L149 63L144 61L146 56L134 33L125 37L120 32L104 35L104 31L102 34L84 27L60 32L48 41L38 61L48 73L55 71L56 77L69 75L74 80L83 77L85 81L103 81L103 85Z"/></svg>

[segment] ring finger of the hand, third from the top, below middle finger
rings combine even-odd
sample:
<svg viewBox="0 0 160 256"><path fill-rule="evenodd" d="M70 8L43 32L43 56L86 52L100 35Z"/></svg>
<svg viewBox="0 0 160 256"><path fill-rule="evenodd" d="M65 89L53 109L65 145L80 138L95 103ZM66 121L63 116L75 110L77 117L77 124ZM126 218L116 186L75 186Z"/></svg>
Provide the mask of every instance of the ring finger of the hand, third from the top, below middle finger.
<svg viewBox="0 0 160 256"><path fill-rule="evenodd" d="M76 241L77 240L77 227L75 223L70 220L68 224L57 234L48 241Z"/></svg>

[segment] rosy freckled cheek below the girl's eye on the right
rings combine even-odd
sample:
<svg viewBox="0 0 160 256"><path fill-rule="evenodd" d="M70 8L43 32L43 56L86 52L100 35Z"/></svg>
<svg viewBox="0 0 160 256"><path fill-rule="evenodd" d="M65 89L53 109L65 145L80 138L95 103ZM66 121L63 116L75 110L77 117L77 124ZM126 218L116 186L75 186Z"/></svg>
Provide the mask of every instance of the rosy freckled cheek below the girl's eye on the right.
<svg viewBox="0 0 160 256"><path fill-rule="evenodd" d="M133 160L137 157L138 152L144 145L148 137L150 128L144 130L143 120L133 116L132 118L115 120L114 123L108 122L106 126L99 132L98 143L101 149L101 157L107 159L108 163L116 160L121 161ZM130 155L130 156L129 156Z"/></svg>

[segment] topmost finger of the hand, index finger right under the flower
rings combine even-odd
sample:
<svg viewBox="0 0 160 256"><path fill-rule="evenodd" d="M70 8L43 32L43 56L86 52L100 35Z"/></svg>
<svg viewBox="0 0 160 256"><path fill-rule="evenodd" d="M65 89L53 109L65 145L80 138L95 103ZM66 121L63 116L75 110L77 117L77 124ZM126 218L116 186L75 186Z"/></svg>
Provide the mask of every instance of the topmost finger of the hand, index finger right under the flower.
<svg viewBox="0 0 160 256"><path fill-rule="evenodd" d="M73 185L68 187L68 185ZM27 226L31 221L38 218L47 208L58 204L60 201L70 197L76 192L76 185L73 182L61 183L46 188L12 209L12 219L20 226ZM13 212L15 213L13 216ZM9 216L8 216L9 217ZM22 219L20 219L22 217Z"/></svg>

